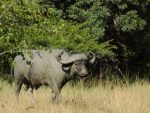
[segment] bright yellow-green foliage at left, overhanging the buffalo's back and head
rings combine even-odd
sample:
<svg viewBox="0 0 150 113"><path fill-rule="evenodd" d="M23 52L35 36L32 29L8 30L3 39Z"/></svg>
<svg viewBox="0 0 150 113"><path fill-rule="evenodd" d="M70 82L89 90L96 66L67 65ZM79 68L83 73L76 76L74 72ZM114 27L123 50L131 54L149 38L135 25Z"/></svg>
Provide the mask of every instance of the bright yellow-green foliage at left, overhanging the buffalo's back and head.
<svg viewBox="0 0 150 113"><path fill-rule="evenodd" d="M1 16L1 20L5 20L1 23L1 50L41 49L52 46L84 52L91 50L105 55L113 55L108 43L99 44L96 41L97 37L104 35L105 29L102 19L97 21L93 27L81 28L86 23L90 24L98 18L107 16L105 15L106 8L104 8L104 12L97 11L91 15L92 10L98 10L96 6L93 6L85 14L82 14L86 18L88 17L84 23L72 25L59 19L61 11L52 7L45 9L44 6L38 4L37 0L32 2L26 0L23 3L2 2L1 4L3 4L2 14L6 10L5 6L8 6L7 12ZM84 11L80 12L84 13ZM101 14L104 16L100 16Z"/></svg>

